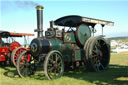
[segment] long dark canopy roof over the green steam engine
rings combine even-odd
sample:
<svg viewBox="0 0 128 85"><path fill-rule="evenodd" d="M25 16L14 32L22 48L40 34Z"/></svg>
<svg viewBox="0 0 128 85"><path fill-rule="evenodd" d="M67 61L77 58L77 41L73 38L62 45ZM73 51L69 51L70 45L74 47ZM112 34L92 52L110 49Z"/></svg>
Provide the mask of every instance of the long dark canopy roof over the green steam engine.
<svg viewBox="0 0 128 85"><path fill-rule="evenodd" d="M55 25L67 26L67 27L77 27L81 23L85 23L91 26L95 26L96 24L109 25L109 26L114 25L114 22L111 22L111 21L82 17L78 15L64 16L54 21Z"/></svg>

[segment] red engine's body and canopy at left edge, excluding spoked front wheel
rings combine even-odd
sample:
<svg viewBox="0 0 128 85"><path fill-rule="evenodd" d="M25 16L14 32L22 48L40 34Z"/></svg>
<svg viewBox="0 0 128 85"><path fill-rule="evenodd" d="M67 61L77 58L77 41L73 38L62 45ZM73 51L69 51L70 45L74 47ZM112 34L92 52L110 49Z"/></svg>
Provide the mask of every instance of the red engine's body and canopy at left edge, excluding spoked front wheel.
<svg viewBox="0 0 128 85"><path fill-rule="evenodd" d="M21 44L15 41L14 37L23 37L23 36L34 36L34 34L13 33L13 32L0 30L0 65L7 64L7 63L14 64L12 60L15 57L13 58L11 57L12 52L16 48L19 48L19 47L21 48ZM13 55L17 55L17 54L13 53Z"/></svg>

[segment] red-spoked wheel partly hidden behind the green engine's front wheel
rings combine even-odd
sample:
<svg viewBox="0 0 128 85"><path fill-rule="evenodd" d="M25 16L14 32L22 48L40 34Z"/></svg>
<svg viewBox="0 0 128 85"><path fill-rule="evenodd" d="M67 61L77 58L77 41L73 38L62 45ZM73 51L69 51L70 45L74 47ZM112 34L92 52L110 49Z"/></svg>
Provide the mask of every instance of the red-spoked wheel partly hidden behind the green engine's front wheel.
<svg viewBox="0 0 128 85"><path fill-rule="evenodd" d="M17 58L19 57L19 55L23 52L29 50L28 48L24 48L24 47L18 47L16 48L11 55L11 61L13 63L14 66L16 66L16 62L17 62ZM28 55L28 61L30 61L30 56Z"/></svg>

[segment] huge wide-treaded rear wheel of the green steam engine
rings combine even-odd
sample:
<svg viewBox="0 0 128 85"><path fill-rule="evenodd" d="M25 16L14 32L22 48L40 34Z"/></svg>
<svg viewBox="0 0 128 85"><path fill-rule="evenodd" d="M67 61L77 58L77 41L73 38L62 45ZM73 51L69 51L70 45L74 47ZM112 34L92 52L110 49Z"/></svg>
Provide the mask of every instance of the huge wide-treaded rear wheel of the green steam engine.
<svg viewBox="0 0 128 85"><path fill-rule="evenodd" d="M85 64L89 71L102 72L110 61L110 47L102 37L92 37L85 43Z"/></svg>

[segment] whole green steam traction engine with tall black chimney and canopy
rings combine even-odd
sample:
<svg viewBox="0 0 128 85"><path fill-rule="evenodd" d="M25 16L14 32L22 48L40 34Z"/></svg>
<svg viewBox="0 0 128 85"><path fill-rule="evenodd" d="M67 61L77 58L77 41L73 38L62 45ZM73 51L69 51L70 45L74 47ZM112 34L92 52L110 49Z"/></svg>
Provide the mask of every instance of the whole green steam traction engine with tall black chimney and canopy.
<svg viewBox="0 0 128 85"><path fill-rule="evenodd" d="M22 52L17 60L17 71L20 77L32 75L42 63L48 79L59 78L65 68L75 68L83 65L82 63L88 71L102 72L107 68L110 60L109 41L102 35L92 35L96 24L104 27L112 26L113 22L76 15L65 16L51 21L50 28L43 36L43 7L36 8L38 29L35 31L38 37L31 41L30 51ZM60 30L53 25L64 28ZM28 56L31 56L30 61L27 60Z"/></svg>

